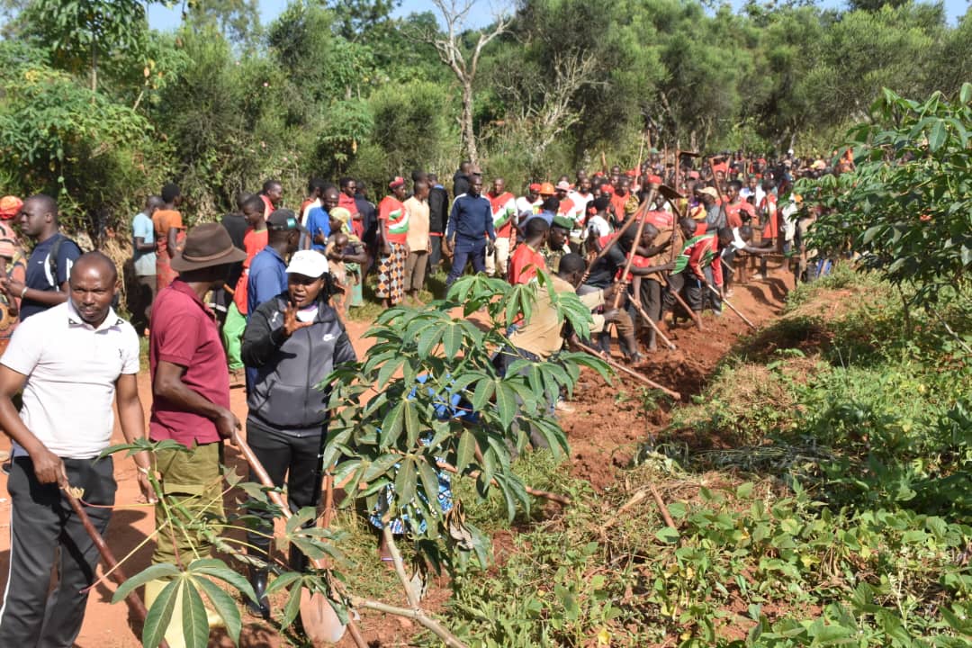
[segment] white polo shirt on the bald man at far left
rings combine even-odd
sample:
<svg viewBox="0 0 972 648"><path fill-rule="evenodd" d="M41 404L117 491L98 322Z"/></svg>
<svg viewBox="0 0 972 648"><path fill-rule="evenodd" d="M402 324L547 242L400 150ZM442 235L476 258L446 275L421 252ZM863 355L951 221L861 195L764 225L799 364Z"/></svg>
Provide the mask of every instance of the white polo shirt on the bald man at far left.
<svg viewBox="0 0 972 648"><path fill-rule="evenodd" d="M112 309L93 328L68 300L21 322L0 363L27 376L23 425L58 457L91 459L111 443L116 381L138 373L138 334Z"/></svg>

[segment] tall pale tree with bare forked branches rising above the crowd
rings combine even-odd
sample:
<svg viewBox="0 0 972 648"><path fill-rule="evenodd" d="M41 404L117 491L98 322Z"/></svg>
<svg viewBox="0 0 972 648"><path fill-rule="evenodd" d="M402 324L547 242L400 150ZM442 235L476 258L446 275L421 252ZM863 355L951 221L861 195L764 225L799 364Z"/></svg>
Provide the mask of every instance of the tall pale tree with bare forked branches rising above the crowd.
<svg viewBox="0 0 972 648"><path fill-rule="evenodd" d="M478 163L479 152L476 148L476 135L472 126L472 115L475 108L472 84L475 82L476 73L479 70L479 58L482 56L483 49L493 39L508 31L510 17L507 14L497 15L492 25L478 31L475 45L471 46L471 51L469 51L464 42L464 36L469 31L467 22L469 13L476 4L475 0L462 0L461 2L433 0L433 4L442 15L445 33L424 31L419 32L418 37L434 46L435 51L438 52L439 60L449 66L449 69L452 70L459 81L463 94L463 110L459 120L462 149L473 163Z"/></svg>

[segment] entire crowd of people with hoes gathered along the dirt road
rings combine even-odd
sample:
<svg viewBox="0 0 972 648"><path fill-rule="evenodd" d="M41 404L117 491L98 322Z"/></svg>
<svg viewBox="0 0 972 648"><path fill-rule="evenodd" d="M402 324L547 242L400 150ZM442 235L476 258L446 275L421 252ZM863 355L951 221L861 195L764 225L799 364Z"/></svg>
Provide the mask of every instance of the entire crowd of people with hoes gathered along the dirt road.
<svg viewBox="0 0 972 648"><path fill-rule="evenodd" d="M803 174L846 170L850 161L836 159L840 168L792 154L767 163L730 153L699 164L692 154L652 151L635 169L578 170L531 182L522 195L503 178L487 184L464 162L451 190L415 171L410 182L392 178L377 205L361 181L312 180L296 210L284 207L283 188L271 180L240 195L222 222L191 228L180 189L167 185L131 222L131 324L116 310L116 264L83 254L60 231L54 199L0 199L0 426L13 441L4 468L12 546L0 645L70 646L81 629L98 554L60 489L81 489L96 529L107 529L114 467L96 459L110 443L113 404L127 440L175 442L132 456L145 498L169 502L158 502L156 528L169 516L223 516L223 443L244 423L290 505L314 506L329 398L317 386L356 358L344 321L363 303L370 275L375 298L389 307L417 303L440 268L446 287L469 266L511 284L535 281L542 270L553 290L575 291L591 309L602 353L613 328L624 358L637 363L657 348L666 313L699 322L706 309L720 314L742 256L761 261L756 278L767 274L767 256L787 254L798 280L812 278L805 240L815 217L791 187ZM534 316L498 350L497 366L550 360L564 334L540 290ZM147 428L136 382L140 335L149 337ZM229 407L234 385L246 390L245 422ZM263 517L248 536L258 594L249 605L264 617L269 524ZM211 542L187 526L157 533L153 562L205 555ZM306 566L299 551L289 562ZM149 605L165 585L147 584ZM167 638L179 645L176 633Z"/></svg>

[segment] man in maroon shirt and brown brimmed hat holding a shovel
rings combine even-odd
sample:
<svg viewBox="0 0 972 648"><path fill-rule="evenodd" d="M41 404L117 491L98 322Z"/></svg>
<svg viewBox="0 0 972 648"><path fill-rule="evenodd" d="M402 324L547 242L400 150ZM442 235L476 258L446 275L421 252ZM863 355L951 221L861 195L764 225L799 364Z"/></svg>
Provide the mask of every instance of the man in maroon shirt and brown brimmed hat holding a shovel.
<svg viewBox="0 0 972 648"><path fill-rule="evenodd" d="M156 506L160 531L153 563L178 563L179 557L186 562L186 557L209 553L201 534L165 529L170 512L223 515L220 450L240 422L229 411L229 371L216 317L202 297L222 287L231 265L245 257L219 223L194 227L183 251L172 258L179 278L156 297L149 342L154 396L149 437L171 439L189 452L156 451L168 506ZM164 586L163 581L147 584L147 605Z"/></svg>

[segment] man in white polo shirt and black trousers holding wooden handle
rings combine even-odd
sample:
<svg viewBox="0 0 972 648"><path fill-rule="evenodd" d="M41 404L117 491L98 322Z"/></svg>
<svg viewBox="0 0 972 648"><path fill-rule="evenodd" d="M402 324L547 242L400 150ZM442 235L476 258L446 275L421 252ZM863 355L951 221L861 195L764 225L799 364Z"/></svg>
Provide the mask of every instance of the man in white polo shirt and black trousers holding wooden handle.
<svg viewBox="0 0 972 648"><path fill-rule="evenodd" d="M17 326L0 358L0 427L14 441L10 579L0 608L0 646L70 648L85 617L98 551L60 488L84 490L88 516L108 528L116 483L108 447L117 401L128 441L144 436L138 335L112 310L115 264L100 253L71 269L68 301ZM23 390L17 414L13 397ZM135 456L143 495L155 496L147 453ZM56 563L57 584L51 574Z"/></svg>

